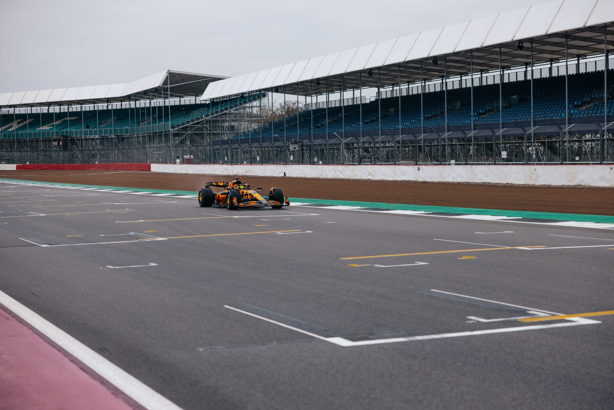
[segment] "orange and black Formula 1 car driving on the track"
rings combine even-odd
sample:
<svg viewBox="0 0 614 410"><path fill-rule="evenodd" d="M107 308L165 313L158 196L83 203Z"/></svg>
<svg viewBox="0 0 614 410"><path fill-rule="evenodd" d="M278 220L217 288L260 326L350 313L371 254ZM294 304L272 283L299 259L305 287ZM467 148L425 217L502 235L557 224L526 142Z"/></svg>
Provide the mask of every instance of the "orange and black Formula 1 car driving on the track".
<svg viewBox="0 0 614 410"><path fill-rule="evenodd" d="M211 187L222 188L222 192L214 194ZM257 190L262 189L258 187ZM288 197L279 188L271 188L268 194L261 194L249 187L241 178L235 178L231 182L208 182L204 188L198 191L198 205L200 207L217 207L228 209L239 208L264 208L279 209L284 205L290 205Z"/></svg>

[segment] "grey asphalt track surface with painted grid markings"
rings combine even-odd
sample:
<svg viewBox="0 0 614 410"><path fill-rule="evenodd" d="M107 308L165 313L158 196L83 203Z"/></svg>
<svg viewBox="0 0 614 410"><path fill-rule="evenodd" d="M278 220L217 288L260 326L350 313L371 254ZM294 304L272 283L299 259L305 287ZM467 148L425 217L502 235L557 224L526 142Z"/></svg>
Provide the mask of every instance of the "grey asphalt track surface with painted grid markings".
<svg viewBox="0 0 614 410"><path fill-rule="evenodd" d="M614 315L551 315L614 310L613 262L608 230L0 184L0 290L184 409L612 409Z"/></svg>

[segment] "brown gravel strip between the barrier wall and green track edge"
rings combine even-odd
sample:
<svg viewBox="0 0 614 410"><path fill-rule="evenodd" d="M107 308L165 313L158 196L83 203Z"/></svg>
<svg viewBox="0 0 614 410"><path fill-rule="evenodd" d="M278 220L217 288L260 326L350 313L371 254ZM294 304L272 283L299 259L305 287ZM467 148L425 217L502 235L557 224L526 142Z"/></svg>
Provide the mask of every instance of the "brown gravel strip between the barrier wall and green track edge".
<svg viewBox="0 0 614 410"><path fill-rule="evenodd" d="M208 181L232 176L137 171L0 171L0 178L198 191ZM614 215L614 188L513 184L427 183L323 178L247 176L252 187L280 187L294 198L410 203L443 207Z"/></svg>

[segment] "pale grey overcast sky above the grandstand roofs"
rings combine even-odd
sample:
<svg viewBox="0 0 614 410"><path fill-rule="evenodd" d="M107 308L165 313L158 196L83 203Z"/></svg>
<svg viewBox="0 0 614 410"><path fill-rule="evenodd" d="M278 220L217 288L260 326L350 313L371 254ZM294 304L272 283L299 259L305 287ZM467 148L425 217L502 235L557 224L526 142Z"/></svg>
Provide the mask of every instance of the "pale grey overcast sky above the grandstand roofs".
<svg viewBox="0 0 614 410"><path fill-rule="evenodd" d="M0 0L0 92L236 76L546 0Z"/></svg>

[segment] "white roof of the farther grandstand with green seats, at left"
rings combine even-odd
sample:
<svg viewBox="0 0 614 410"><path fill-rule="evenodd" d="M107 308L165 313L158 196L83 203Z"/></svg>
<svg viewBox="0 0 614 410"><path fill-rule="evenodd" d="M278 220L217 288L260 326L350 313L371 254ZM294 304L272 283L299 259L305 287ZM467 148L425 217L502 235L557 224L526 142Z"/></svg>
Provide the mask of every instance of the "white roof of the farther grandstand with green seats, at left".
<svg viewBox="0 0 614 410"><path fill-rule="evenodd" d="M37 106L50 104L91 104L107 101L142 100L158 97L193 97L201 95L213 81L223 76L166 70L132 82L122 84L90 85L63 89L0 93L0 107Z"/></svg>

